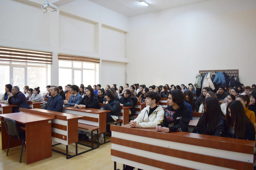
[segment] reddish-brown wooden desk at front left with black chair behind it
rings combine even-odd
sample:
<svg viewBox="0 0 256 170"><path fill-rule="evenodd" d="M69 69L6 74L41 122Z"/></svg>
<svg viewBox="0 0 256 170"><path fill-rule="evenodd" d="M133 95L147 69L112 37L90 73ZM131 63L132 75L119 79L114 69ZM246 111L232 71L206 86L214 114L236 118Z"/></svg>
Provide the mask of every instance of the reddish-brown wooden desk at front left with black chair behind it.
<svg viewBox="0 0 256 170"><path fill-rule="evenodd" d="M2 114L2 150L7 149L9 135L4 127L3 118L15 120L25 125L26 129L26 156L27 164L52 156L51 120L54 115L30 114L26 112ZM10 148L21 146L21 140L13 139Z"/></svg>

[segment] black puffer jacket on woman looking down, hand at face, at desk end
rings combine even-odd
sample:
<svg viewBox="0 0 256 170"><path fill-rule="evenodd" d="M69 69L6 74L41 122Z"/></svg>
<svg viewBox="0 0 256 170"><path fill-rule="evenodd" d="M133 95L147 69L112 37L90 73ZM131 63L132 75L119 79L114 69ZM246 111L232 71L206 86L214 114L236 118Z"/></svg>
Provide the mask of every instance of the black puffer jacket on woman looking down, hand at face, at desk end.
<svg viewBox="0 0 256 170"><path fill-rule="evenodd" d="M119 102L119 98L112 98L108 104L104 105L103 107L104 110L111 110L111 112L108 112L107 115L112 115L112 116L120 116L121 113L121 106Z"/></svg>

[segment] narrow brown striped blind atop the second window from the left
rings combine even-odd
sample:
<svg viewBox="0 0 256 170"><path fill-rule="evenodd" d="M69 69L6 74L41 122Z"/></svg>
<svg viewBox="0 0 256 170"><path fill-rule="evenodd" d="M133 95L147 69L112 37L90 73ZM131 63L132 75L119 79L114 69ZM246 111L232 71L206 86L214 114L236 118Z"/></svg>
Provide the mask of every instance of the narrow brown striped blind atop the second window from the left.
<svg viewBox="0 0 256 170"><path fill-rule="evenodd" d="M96 63L96 64L99 64L99 60L100 60L98 58L82 57L82 56L66 55L66 54L58 54L58 59L65 60L65 61L80 61L80 62Z"/></svg>

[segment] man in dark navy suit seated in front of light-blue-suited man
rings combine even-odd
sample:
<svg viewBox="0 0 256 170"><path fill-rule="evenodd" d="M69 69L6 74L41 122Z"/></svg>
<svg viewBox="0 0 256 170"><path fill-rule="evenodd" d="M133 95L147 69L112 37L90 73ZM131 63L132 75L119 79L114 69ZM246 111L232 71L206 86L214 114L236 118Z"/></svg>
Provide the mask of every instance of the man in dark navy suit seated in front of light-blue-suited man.
<svg viewBox="0 0 256 170"><path fill-rule="evenodd" d="M45 110L51 110L55 112L62 112L63 109L63 98L58 95L59 88L57 86L52 86L50 89L51 97L49 98Z"/></svg>

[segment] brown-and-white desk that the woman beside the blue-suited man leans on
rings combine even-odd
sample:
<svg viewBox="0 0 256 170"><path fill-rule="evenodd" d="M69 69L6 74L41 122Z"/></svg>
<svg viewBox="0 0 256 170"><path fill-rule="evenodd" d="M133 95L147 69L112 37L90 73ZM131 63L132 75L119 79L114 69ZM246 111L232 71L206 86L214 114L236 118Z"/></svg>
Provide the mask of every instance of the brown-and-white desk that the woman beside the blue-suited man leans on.
<svg viewBox="0 0 256 170"><path fill-rule="evenodd" d="M91 111L87 111L91 110ZM107 112L111 112L110 110L101 110L101 109L93 109L93 108L82 108L76 109L74 106L64 107L62 112L71 113L74 115L84 116L78 123L89 124L92 126L99 127L99 133L105 133L107 127Z"/></svg>

